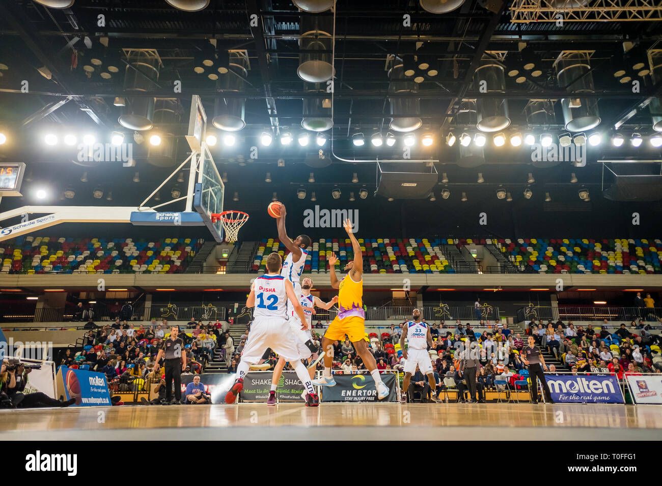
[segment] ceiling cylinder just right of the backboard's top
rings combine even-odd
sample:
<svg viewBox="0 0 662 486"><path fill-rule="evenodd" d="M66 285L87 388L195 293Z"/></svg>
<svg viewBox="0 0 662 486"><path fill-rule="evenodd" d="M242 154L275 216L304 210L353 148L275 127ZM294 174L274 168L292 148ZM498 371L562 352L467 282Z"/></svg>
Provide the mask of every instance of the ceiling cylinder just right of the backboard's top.
<svg viewBox="0 0 662 486"><path fill-rule="evenodd" d="M230 51L228 72L222 75L219 84L222 91L240 93L244 89L244 80L248 77L250 63L246 51ZM244 126L245 98L218 98L214 104L212 123L218 130L238 132Z"/></svg>

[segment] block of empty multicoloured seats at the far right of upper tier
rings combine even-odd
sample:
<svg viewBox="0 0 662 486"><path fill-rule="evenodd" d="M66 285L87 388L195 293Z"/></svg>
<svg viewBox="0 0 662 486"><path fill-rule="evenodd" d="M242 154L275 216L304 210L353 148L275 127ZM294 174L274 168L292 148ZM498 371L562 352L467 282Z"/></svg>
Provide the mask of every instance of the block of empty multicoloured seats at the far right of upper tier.
<svg viewBox="0 0 662 486"><path fill-rule="evenodd" d="M661 273L659 239L499 239L498 247L525 271L540 273Z"/></svg>

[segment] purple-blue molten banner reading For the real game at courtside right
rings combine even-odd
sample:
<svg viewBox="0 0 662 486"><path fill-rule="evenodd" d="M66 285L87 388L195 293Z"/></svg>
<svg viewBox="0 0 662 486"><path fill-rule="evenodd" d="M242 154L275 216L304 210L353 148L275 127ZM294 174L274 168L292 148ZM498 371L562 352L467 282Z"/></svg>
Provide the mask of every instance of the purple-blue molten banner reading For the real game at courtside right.
<svg viewBox="0 0 662 486"><path fill-rule="evenodd" d="M557 403L625 403L614 375L545 375Z"/></svg>

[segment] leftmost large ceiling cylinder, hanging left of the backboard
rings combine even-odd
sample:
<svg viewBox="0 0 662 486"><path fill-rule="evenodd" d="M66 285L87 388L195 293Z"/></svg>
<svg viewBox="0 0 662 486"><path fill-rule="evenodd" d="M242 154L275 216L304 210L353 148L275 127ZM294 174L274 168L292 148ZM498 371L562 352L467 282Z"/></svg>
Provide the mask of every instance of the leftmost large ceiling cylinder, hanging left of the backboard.
<svg viewBox="0 0 662 486"><path fill-rule="evenodd" d="M148 93L157 88L159 68L162 65L154 49L125 50L128 65L124 71L124 91ZM127 97L124 113L118 122L124 128L142 132L152 128L154 116L153 97Z"/></svg>

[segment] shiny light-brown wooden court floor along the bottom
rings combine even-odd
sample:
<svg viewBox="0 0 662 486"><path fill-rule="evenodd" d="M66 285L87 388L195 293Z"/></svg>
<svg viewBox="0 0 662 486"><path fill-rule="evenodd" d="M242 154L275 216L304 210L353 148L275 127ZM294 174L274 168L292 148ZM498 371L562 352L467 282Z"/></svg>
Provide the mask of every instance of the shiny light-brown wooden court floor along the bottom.
<svg viewBox="0 0 662 486"><path fill-rule="evenodd" d="M123 405L0 411L0 440L662 439L662 407L531 403ZM529 438L532 436L529 435Z"/></svg>

